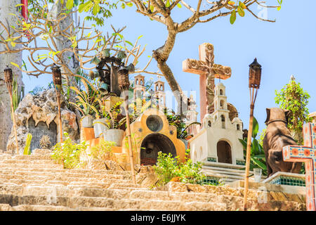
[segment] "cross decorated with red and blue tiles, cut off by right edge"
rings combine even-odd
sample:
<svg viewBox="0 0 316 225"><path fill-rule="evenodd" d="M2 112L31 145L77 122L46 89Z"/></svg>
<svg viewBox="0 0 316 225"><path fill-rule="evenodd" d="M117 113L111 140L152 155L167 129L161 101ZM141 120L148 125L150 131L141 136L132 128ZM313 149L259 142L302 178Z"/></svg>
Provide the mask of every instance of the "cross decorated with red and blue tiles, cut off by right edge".
<svg viewBox="0 0 316 225"><path fill-rule="evenodd" d="M305 162L306 210L315 211L316 123L303 126L304 146L283 147L283 160Z"/></svg>

